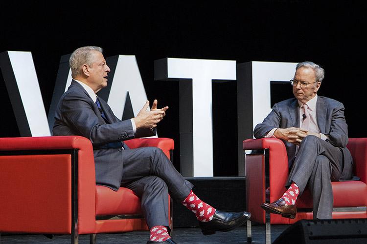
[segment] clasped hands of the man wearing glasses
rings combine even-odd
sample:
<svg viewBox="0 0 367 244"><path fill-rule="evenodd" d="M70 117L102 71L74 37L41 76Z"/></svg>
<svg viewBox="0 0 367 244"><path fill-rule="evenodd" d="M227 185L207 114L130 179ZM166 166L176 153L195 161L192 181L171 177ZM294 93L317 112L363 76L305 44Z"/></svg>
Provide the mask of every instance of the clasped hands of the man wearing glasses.
<svg viewBox="0 0 367 244"><path fill-rule="evenodd" d="M289 127L289 128L278 128L274 132L274 136L279 139L283 139L286 142L291 142L293 144L299 145L302 140L309 135L314 135L321 137L319 133L310 132L303 128Z"/></svg>

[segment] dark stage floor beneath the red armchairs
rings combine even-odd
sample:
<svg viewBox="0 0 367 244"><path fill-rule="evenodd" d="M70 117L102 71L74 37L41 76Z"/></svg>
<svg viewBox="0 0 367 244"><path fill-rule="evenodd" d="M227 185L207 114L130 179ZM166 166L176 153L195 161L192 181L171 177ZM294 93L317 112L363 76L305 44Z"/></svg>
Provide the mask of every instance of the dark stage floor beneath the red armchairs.
<svg viewBox="0 0 367 244"><path fill-rule="evenodd" d="M272 225L272 241L289 225ZM148 231L135 231L121 234L98 234L97 244L146 244ZM175 228L172 238L179 244L239 244L247 243L246 227L241 226L230 232L217 232L215 235L204 236L200 228ZM54 236L48 239L44 235L9 235L0 237L1 244L67 244L69 235ZM89 236L79 237L80 244L89 244ZM265 225L252 226L252 243L265 243Z"/></svg>

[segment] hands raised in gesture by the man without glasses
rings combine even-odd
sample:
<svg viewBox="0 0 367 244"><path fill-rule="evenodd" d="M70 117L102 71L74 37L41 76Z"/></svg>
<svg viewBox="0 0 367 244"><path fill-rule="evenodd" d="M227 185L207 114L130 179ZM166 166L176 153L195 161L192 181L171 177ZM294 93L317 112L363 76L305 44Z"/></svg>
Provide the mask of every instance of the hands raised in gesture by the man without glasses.
<svg viewBox="0 0 367 244"><path fill-rule="evenodd" d="M134 118L135 125L138 128L155 128L165 116L165 111L168 107L157 109L157 100L154 100L152 109L147 111L149 101L146 101L143 108L139 111L137 117Z"/></svg>

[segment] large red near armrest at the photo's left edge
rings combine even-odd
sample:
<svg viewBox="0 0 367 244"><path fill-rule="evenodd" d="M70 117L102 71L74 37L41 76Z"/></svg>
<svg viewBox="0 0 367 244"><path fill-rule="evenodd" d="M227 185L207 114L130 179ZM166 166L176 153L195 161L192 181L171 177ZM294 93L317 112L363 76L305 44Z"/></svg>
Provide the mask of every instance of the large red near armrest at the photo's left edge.
<svg viewBox="0 0 367 244"><path fill-rule="evenodd" d="M14 164L9 163L10 161ZM73 162L75 167L72 166ZM95 169L92 143L80 136L0 138L0 195L7 196L7 202L0 204L8 207L16 203L16 210L20 210L17 214L21 214L20 218L12 216L9 221L9 218L4 217L0 222L8 226L13 223L14 228L7 229L10 232L14 230L55 234L65 233L65 229L68 229L67 233L72 231L71 208L74 203L71 203L71 177L75 169L77 195L74 203L79 206L76 209L77 228L79 231L92 231L95 228ZM64 201L65 204L60 201L61 191L65 195L62 199L67 201ZM58 208L60 204L63 206ZM37 212L31 213L27 209L37 209ZM64 209L64 212L61 209ZM13 212L16 213L16 210L13 209ZM42 213L48 214L45 216L46 220L33 223L32 217L39 219ZM0 216L3 217L2 211ZM51 216L57 221L48 223L47 220L52 219ZM63 216L63 220L58 216ZM24 218L27 221L23 223L28 224L21 224L22 228L18 228L20 224L16 222ZM55 231L55 228L58 231Z"/></svg>

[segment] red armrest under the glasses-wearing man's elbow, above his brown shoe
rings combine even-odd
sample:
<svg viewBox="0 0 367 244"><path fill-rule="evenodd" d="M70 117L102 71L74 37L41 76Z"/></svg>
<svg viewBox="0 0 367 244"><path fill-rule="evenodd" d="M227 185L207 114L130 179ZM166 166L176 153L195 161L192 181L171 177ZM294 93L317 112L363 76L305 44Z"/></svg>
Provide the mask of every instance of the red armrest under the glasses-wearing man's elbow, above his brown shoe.
<svg viewBox="0 0 367 244"><path fill-rule="evenodd" d="M245 158L247 210L253 213L253 221L265 223L265 212L260 204L274 202L284 193L284 184L288 178L287 151L284 143L276 138L248 139L243 141L243 149L254 150L247 151ZM267 180L269 196L265 194ZM273 216L271 221L280 218Z"/></svg>

